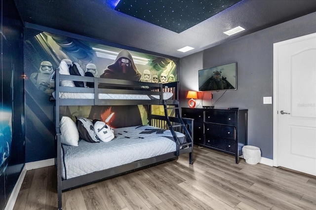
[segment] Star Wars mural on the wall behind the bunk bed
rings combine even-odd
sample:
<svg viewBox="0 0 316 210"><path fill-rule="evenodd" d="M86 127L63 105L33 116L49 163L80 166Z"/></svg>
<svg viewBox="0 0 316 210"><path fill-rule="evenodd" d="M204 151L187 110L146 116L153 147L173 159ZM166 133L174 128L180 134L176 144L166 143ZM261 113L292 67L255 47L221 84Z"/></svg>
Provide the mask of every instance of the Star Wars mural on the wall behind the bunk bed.
<svg viewBox="0 0 316 210"><path fill-rule="evenodd" d="M86 76L155 83L177 81L175 61L146 53L33 29L25 29L24 47L28 78L25 81L27 162L54 157L54 102L49 99L55 86L55 68L61 63L82 68ZM159 107L153 110L157 110L156 114L161 112ZM60 112L74 120L76 116L100 119L114 128L148 124L148 109L143 105L67 106ZM41 154L46 157L40 157Z"/></svg>

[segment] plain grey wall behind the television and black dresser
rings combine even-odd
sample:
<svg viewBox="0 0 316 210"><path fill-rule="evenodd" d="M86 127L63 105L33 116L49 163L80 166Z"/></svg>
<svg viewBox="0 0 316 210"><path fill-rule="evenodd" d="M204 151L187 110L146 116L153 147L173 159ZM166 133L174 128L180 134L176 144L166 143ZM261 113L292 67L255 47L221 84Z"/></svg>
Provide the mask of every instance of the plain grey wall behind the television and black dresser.
<svg viewBox="0 0 316 210"><path fill-rule="evenodd" d="M187 91L198 89L198 70L237 62L237 90L224 95L213 91L213 99L210 92L203 92L197 105L248 109L248 144L260 147L262 157L273 159L273 105L263 104L263 97L273 97L273 43L312 33L316 33L316 12L182 58L180 105L188 107Z"/></svg>

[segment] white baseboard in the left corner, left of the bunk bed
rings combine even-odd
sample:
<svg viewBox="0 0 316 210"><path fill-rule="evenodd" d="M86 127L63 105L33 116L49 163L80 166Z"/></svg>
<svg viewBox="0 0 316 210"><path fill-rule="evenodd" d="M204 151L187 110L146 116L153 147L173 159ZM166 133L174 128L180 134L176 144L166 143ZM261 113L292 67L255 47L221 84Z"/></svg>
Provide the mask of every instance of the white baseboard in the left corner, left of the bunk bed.
<svg viewBox="0 0 316 210"><path fill-rule="evenodd" d="M20 192L24 177L25 177L26 172L28 170L39 169L42 167L53 166L53 165L55 165L54 158L26 163L22 169L22 172L21 172L17 182L15 183L15 186L12 190L12 193L8 199L8 202L7 202L4 210L13 210L13 207L14 207L14 204L15 204L16 199L18 197L18 194Z"/></svg>

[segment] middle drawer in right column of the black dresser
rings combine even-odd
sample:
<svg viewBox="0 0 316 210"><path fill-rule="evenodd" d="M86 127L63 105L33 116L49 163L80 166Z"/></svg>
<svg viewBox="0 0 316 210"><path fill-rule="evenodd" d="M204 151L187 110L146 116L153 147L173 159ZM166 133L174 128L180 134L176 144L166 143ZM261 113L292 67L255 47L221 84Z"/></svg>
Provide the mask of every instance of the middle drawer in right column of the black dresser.
<svg viewBox="0 0 316 210"><path fill-rule="evenodd" d="M208 136L236 140L236 127L205 123L205 138Z"/></svg>

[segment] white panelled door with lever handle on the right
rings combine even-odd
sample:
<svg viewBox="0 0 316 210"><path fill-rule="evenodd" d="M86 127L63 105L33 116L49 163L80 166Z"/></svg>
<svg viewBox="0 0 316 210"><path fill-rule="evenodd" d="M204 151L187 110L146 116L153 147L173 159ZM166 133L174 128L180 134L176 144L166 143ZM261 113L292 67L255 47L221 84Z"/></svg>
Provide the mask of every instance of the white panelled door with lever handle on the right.
<svg viewBox="0 0 316 210"><path fill-rule="evenodd" d="M274 166L316 175L316 34L274 44Z"/></svg>

